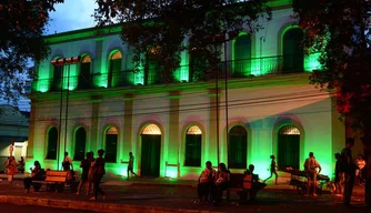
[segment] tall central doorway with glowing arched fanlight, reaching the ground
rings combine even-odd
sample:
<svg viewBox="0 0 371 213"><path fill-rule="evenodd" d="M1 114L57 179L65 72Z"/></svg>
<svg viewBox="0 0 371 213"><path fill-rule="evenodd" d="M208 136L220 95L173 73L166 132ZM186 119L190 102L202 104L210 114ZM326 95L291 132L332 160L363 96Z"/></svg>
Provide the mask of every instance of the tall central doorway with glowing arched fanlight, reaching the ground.
<svg viewBox="0 0 371 213"><path fill-rule="evenodd" d="M147 125L141 132L141 176L160 176L161 130L156 124Z"/></svg>

